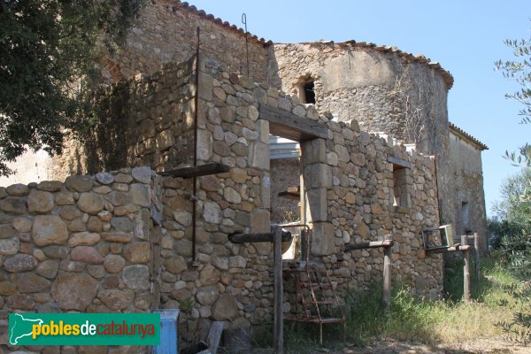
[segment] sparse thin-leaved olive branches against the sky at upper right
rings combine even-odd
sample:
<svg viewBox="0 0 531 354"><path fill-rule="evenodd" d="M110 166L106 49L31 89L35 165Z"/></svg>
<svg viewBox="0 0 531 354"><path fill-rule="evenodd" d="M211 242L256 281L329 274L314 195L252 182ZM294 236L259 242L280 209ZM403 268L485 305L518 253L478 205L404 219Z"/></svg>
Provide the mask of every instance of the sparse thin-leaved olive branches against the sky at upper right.
<svg viewBox="0 0 531 354"><path fill-rule="evenodd" d="M505 40L505 45L512 49L513 60L496 61L496 69L501 70L504 77L519 84L520 89L505 97L515 99L523 108L519 110L521 124L531 123L531 37L529 39ZM505 151L515 165L531 165L531 145L526 143L519 148L519 153Z"/></svg>

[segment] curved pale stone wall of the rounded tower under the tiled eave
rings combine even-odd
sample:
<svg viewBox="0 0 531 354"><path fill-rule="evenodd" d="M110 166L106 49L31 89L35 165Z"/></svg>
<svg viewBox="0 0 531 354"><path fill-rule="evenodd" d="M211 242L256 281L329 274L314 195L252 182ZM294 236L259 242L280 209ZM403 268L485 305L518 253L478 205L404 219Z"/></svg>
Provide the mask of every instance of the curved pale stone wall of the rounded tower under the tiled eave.
<svg viewBox="0 0 531 354"><path fill-rule="evenodd" d="M300 94L314 81L316 108L339 120L357 119L362 130L383 132L436 157L442 221L455 223L447 112L449 83L440 70L394 51L349 43L274 44L269 80ZM422 57L423 58L423 57Z"/></svg>

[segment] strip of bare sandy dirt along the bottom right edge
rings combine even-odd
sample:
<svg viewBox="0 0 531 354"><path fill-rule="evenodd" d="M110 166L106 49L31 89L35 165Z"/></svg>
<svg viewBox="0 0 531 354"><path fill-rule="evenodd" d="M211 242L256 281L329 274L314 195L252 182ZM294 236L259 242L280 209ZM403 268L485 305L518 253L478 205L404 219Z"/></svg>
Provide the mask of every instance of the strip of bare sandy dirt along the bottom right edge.
<svg viewBox="0 0 531 354"><path fill-rule="evenodd" d="M271 354L273 350L246 350L250 354ZM366 348L358 348L348 342L337 349L319 348L312 350L311 354L397 354L397 353L434 353L434 354L531 354L531 346L523 347L512 342L504 342L491 339L477 339L470 342L458 342L451 344L427 345L415 342L397 342L395 340L384 340L373 342Z"/></svg>

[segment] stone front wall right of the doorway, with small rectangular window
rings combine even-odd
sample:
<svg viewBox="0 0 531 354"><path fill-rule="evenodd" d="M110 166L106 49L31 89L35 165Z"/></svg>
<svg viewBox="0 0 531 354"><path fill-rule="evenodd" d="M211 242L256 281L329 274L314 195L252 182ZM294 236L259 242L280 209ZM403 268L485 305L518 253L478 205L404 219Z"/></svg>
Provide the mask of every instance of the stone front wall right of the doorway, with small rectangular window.
<svg viewBox="0 0 531 354"><path fill-rule="evenodd" d="M382 251L343 254L342 247L383 240L390 234L396 241L393 281L410 285L417 295L442 296L443 259L440 255L426 256L421 241L422 228L435 227L439 222L434 161L409 155L404 146L390 147L378 136L360 131L356 120L329 120L326 124L326 141L303 143L306 218L313 224L312 253L320 255L322 263L333 269L333 280L342 293L352 288L367 289L381 279ZM389 157L412 164L403 179L403 189L410 196L407 206L393 205L393 164L388 162ZM320 235L319 242L316 234ZM343 258L339 263L338 255Z"/></svg>

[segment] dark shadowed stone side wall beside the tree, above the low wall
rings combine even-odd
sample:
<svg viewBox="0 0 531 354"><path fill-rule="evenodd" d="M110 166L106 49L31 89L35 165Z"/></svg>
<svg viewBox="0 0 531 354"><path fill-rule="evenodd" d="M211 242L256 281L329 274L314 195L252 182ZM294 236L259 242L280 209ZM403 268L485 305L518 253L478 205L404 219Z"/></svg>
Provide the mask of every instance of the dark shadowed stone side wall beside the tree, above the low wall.
<svg viewBox="0 0 531 354"><path fill-rule="evenodd" d="M149 165L157 172L193 163L195 58L166 64L100 91L97 122L85 142L53 158L54 177ZM200 136L201 138L201 136ZM201 158L202 155L200 154Z"/></svg>

